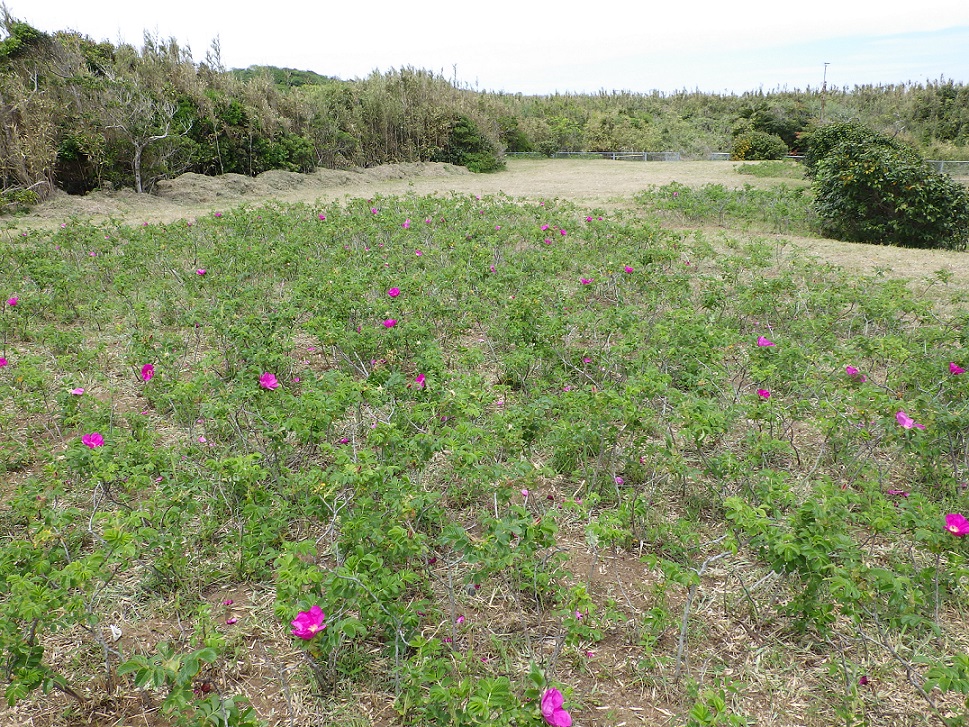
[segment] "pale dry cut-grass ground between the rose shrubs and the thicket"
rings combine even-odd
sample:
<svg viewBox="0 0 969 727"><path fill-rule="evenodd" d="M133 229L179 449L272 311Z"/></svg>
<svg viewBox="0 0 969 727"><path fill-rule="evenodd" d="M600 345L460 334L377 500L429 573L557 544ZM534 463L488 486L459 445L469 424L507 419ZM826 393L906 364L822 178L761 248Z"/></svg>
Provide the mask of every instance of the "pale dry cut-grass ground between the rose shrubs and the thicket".
<svg viewBox="0 0 969 727"><path fill-rule="evenodd" d="M680 182L690 186L769 187L778 180L737 174L740 162L618 162L609 160L511 159L497 174L472 174L450 164L391 164L349 171L323 169L313 174L271 171L251 178L238 174L204 177L184 174L159 182L154 194L128 190L93 192L83 197L57 194L32 214L17 218L17 227L44 227L70 217L170 222L216 210L254 205L270 199L320 203L344 198L403 194L493 195L527 199L567 199L580 206L630 207L633 195L650 186ZM786 184L804 184L783 180ZM941 250L852 244L820 238L779 236L793 248L863 273L928 279L938 270L952 283L969 289L969 256Z"/></svg>

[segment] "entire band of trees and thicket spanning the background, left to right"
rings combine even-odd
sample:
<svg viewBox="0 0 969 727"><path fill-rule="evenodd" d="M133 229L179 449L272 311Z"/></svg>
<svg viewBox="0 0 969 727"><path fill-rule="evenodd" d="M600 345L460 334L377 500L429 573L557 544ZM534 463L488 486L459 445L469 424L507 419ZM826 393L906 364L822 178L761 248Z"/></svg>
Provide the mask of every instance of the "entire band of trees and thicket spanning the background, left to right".
<svg viewBox="0 0 969 727"><path fill-rule="evenodd" d="M142 47L42 33L0 17L0 183L6 202L109 186L150 191L187 171L445 161L487 172L505 151L798 151L826 120L857 119L934 158L969 158L969 87L925 84L719 95L478 92L430 71L341 81L311 71L227 71L175 40Z"/></svg>

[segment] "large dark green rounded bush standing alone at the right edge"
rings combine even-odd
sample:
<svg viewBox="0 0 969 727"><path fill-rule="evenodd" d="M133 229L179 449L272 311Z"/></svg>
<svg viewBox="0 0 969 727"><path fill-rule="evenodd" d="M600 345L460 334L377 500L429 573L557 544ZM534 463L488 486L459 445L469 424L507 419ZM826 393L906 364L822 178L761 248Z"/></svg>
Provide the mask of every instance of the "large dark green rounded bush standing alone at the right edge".
<svg viewBox="0 0 969 727"><path fill-rule="evenodd" d="M850 242L965 248L969 192L962 185L887 137L855 124L832 126L811 142L823 233Z"/></svg>

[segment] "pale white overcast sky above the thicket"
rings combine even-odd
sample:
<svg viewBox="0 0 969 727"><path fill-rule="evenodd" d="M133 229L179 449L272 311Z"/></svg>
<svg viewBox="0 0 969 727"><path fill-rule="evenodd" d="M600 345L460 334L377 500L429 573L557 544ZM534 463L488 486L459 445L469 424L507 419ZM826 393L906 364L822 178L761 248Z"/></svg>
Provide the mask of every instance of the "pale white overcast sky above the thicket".
<svg viewBox="0 0 969 727"><path fill-rule="evenodd" d="M274 65L343 79L413 66L480 90L547 94L681 89L742 93L969 82L969 1L6 0L45 31L140 46L219 38L227 68Z"/></svg>

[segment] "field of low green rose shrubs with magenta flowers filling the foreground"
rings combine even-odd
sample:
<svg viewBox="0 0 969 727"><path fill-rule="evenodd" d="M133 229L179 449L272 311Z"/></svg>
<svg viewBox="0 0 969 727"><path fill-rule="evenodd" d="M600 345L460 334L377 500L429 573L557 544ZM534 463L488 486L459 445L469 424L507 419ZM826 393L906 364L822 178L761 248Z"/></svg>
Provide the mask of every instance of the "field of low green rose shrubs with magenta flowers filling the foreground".
<svg viewBox="0 0 969 727"><path fill-rule="evenodd" d="M11 714L523 725L555 687L578 724L964 717L965 309L654 214L807 224L761 194L8 236Z"/></svg>

